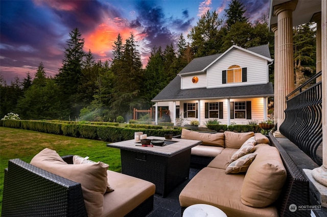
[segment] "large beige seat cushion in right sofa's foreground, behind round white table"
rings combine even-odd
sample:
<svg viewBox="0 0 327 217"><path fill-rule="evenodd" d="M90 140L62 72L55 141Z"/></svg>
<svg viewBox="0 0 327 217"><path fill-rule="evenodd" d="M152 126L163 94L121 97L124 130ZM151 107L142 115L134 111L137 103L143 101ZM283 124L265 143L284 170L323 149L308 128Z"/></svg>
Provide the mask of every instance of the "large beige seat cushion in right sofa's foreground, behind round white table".
<svg viewBox="0 0 327 217"><path fill-rule="evenodd" d="M182 207L204 203L220 208L227 216L278 216L274 206L249 207L241 202L244 174L226 175L225 170L203 168L179 195Z"/></svg>

